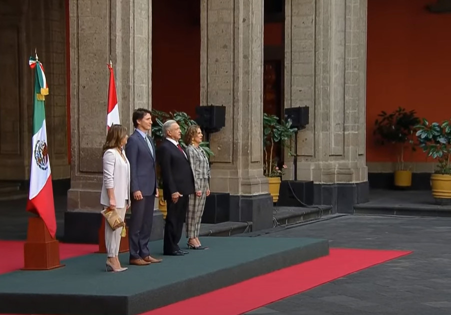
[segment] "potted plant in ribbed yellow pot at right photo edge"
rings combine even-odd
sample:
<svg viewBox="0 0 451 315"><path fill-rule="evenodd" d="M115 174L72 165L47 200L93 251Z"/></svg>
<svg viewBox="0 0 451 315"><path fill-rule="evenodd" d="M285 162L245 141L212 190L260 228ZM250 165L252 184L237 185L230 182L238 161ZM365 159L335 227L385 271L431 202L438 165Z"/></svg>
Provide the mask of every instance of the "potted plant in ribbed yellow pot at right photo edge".
<svg viewBox="0 0 451 315"><path fill-rule="evenodd" d="M419 146L427 156L437 160L437 166L430 176L432 195L437 202L451 199L451 120L429 123L426 119L416 126Z"/></svg>

